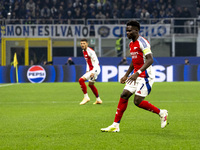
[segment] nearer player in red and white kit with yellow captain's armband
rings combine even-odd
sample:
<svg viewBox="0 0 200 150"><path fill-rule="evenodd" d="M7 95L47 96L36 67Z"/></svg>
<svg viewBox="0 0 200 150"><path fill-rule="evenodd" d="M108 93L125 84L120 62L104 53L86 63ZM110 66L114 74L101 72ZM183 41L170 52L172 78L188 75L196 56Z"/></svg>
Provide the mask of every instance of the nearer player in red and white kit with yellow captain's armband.
<svg viewBox="0 0 200 150"><path fill-rule="evenodd" d="M155 74L152 68L153 56L149 42L139 35L140 24L136 20L130 20L126 25L126 33L132 41L129 44L132 62L126 74L121 78L120 83L126 83L121 94L114 122L107 128L102 128L102 132L119 132L119 124L124 111L127 108L129 98L134 96L134 104L145 110L156 113L161 119L161 128L167 125L168 111L159 109L145 101L145 97L151 92ZM129 74L134 70L134 73Z"/></svg>

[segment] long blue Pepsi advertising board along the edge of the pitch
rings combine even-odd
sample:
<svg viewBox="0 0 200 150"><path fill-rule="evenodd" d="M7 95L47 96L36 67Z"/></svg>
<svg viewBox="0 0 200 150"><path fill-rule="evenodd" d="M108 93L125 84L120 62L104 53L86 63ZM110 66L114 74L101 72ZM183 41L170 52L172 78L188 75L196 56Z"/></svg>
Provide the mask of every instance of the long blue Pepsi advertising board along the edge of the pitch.
<svg viewBox="0 0 200 150"><path fill-rule="evenodd" d="M128 70L126 66L102 65L98 82L118 82ZM200 65L153 65L155 82L200 81ZM85 73L85 65L19 66L19 83L78 82ZM0 67L0 83L16 83L12 66Z"/></svg>

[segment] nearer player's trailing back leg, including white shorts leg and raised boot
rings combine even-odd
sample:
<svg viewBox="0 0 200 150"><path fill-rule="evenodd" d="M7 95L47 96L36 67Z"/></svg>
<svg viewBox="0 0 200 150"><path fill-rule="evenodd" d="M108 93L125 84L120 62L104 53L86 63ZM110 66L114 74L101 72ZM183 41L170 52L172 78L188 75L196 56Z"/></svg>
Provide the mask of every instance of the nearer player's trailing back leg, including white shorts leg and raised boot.
<svg viewBox="0 0 200 150"><path fill-rule="evenodd" d="M162 110L152 105L150 102L145 101L144 98L150 94L151 87L153 85L153 80L151 79L140 79L138 82L137 90L135 92L134 104L139 108L156 113L161 119L161 128L167 125L167 110Z"/></svg>

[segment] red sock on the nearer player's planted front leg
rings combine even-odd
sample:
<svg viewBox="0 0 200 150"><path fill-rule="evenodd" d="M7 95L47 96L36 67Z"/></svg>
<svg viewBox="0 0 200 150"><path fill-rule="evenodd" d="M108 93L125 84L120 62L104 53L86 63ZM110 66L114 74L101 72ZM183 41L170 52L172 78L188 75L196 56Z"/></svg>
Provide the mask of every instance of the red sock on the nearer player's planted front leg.
<svg viewBox="0 0 200 150"><path fill-rule="evenodd" d="M128 105L128 100L120 98L118 106L117 106L117 112L115 115L114 122L120 123L120 120L123 116L124 111L126 110Z"/></svg>

